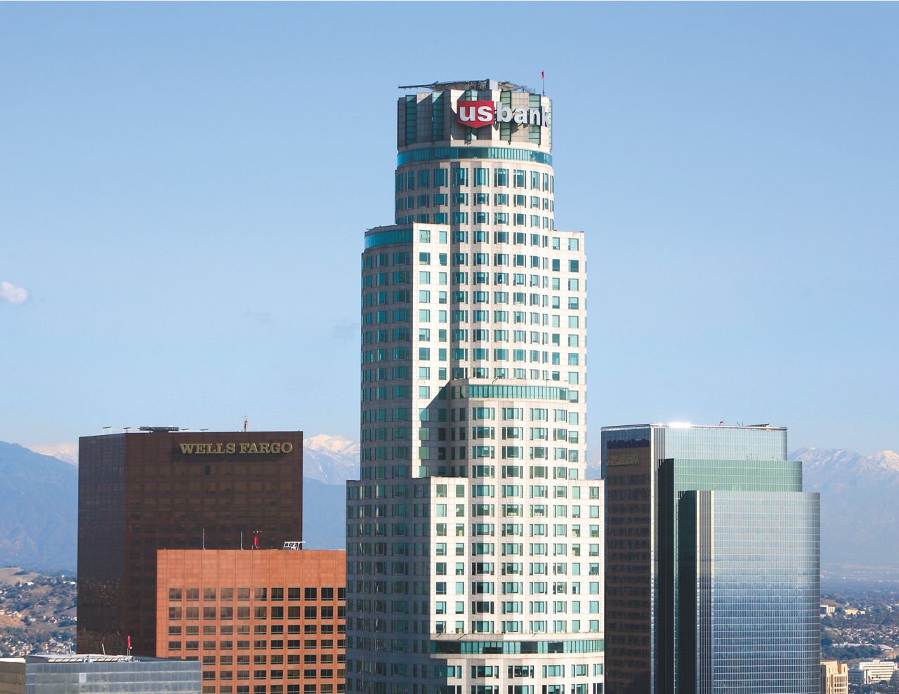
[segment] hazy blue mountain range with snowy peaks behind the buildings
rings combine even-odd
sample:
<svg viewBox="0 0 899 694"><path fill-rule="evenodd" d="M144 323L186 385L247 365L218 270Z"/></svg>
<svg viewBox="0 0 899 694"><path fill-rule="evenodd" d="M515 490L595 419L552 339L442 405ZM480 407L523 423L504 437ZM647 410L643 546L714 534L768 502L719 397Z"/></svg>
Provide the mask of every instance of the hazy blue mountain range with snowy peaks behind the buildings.
<svg viewBox="0 0 899 694"><path fill-rule="evenodd" d="M359 444L310 436L303 456L306 547L343 548L344 482L357 478ZM899 453L805 447L790 458L804 463L806 491L821 493L822 563L899 568ZM76 519L76 468L0 442L0 566L71 571Z"/></svg>

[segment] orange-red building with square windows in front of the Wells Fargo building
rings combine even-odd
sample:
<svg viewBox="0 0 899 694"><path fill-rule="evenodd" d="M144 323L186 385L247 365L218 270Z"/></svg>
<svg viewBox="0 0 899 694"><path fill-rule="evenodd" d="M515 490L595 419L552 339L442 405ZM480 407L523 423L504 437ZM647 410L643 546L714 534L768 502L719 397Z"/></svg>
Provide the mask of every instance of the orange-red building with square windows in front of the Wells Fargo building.
<svg viewBox="0 0 899 694"><path fill-rule="evenodd" d="M156 556L156 655L200 660L203 694L343 693L343 550Z"/></svg>

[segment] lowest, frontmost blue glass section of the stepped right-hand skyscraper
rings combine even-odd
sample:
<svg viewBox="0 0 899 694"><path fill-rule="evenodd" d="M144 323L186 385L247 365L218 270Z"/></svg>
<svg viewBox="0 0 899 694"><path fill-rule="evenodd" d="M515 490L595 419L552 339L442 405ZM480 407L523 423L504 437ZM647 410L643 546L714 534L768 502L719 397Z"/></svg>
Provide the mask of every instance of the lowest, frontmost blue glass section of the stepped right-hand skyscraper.
<svg viewBox="0 0 899 694"><path fill-rule="evenodd" d="M681 690L817 694L818 495L698 491L682 503Z"/></svg>

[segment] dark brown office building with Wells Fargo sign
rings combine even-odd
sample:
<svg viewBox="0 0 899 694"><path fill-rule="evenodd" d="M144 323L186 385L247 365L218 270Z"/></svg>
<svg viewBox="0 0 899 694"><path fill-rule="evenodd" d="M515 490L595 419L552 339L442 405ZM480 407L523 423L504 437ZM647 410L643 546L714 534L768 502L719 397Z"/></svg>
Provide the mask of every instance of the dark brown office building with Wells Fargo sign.
<svg viewBox="0 0 899 694"><path fill-rule="evenodd" d="M78 653L156 655L156 549L302 540L302 432L85 436L78 461Z"/></svg>

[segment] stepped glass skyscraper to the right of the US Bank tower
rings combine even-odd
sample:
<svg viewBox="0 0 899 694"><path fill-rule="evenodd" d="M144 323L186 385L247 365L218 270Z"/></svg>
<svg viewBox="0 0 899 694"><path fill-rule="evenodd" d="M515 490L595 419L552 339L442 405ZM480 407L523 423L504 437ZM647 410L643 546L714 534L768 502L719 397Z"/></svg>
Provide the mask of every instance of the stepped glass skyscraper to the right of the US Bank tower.
<svg viewBox="0 0 899 694"><path fill-rule="evenodd" d="M813 694L818 495L771 426L610 426L609 694Z"/></svg>

